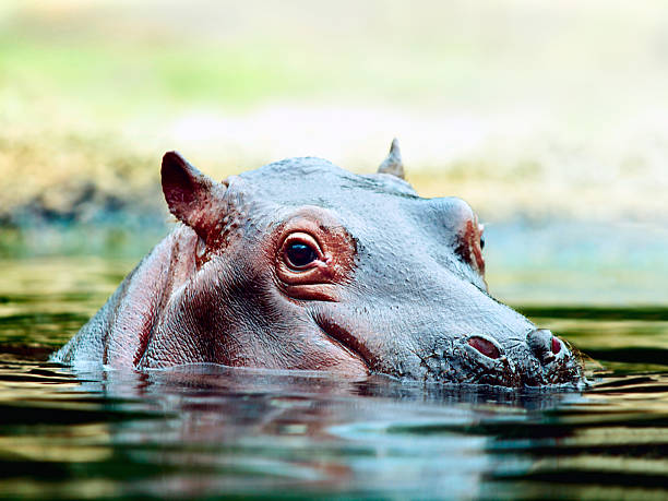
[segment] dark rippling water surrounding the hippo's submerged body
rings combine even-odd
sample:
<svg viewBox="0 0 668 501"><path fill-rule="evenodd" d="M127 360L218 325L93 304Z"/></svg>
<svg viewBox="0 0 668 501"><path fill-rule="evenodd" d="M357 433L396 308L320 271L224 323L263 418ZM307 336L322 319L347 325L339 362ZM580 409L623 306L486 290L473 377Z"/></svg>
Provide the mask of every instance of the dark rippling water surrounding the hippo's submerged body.
<svg viewBox="0 0 668 501"><path fill-rule="evenodd" d="M131 264L0 262L0 497L668 497L668 308L518 305L584 392L45 362Z"/></svg>

